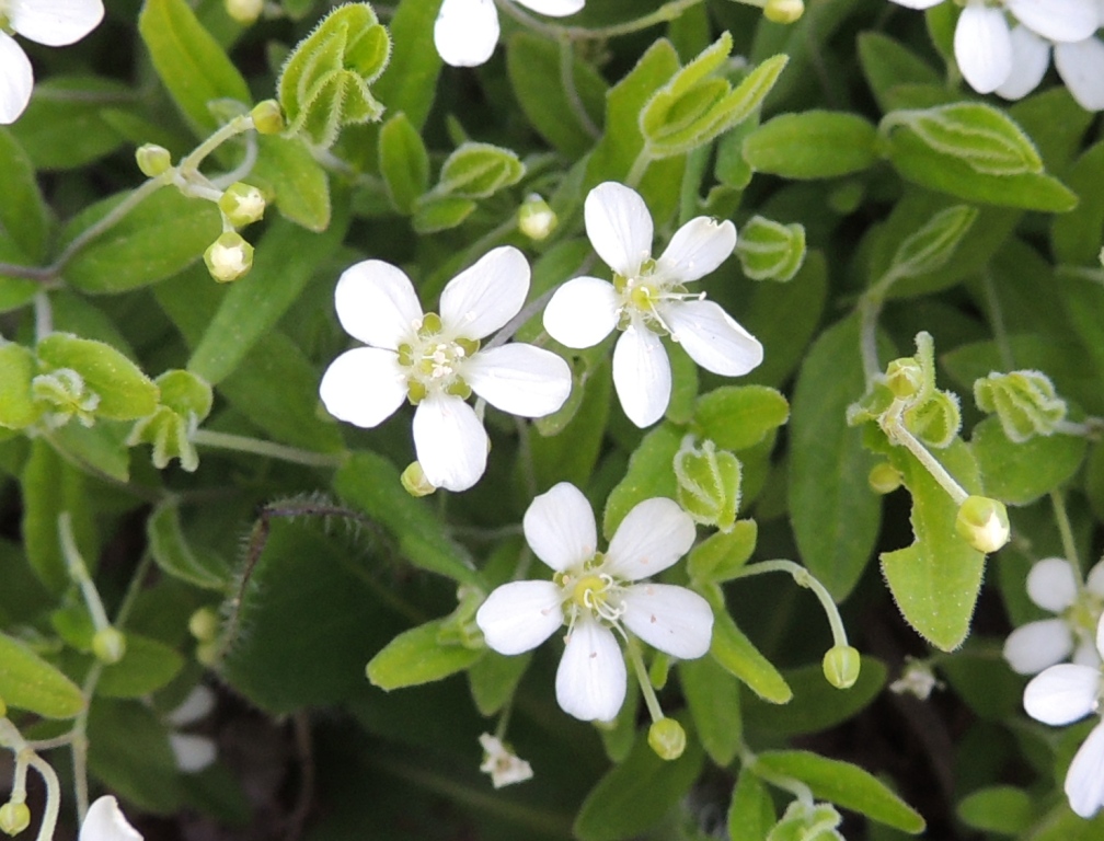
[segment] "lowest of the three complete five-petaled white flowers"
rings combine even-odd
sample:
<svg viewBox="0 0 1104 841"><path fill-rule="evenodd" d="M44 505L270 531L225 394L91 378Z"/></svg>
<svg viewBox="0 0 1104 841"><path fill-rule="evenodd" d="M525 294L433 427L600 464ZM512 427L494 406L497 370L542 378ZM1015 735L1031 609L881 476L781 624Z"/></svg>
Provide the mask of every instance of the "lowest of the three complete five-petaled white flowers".
<svg viewBox="0 0 1104 841"><path fill-rule="evenodd" d="M630 632L683 660L709 650L713 614L697 593L640 582L675 564L694 540L690 517L670 499L640 502L609 549L597 552L591 505L560 482L532 501L526 540L555 575L496 588L476 613L487 645L502 654L535 648L567 622L555 675L556 701L583 721L611 721L625 701L625 661L614 637Z"/></svg>

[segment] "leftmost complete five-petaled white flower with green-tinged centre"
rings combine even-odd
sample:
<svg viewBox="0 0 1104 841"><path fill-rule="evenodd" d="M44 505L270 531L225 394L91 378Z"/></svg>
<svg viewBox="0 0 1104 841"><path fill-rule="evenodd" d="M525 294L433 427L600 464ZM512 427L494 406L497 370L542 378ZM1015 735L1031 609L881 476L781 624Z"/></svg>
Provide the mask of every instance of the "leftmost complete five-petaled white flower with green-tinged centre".
<svg viewBox="0 0 1104 841"><path fill-rule="evenodd" d="M414 449L437 488L466 490L487 466L488 438L465 398L474 391L521 417L543 417L571 393L571 369L551 351L514 342L479 350L479 340L521 309L529 264L517 248L495 248L448 281L440 316L423 313L399 268L364 260L346 269L335 300L346 331L369 347L338 356L319 387L331 415L373 427L410 397Z"/></svg>

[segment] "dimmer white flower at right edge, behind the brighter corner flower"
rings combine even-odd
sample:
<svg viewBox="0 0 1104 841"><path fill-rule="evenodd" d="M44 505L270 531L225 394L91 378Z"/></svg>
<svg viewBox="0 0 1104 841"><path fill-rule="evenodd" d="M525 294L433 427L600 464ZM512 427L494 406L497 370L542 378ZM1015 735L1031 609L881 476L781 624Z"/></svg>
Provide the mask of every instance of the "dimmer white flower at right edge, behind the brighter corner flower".
<svg viewBox="0 0 1104 841"><path fill-rule="evenodd" d="M1058 617L1013 630L1005 640L1008 664L1020 674L1037 674L1072 654L1075 663L1098 666L1093 635L1104 607L1104 563L1089 571L1079 592L1070 562L1047 557L1031 567L1027 586L1031 600Z"/></svg>

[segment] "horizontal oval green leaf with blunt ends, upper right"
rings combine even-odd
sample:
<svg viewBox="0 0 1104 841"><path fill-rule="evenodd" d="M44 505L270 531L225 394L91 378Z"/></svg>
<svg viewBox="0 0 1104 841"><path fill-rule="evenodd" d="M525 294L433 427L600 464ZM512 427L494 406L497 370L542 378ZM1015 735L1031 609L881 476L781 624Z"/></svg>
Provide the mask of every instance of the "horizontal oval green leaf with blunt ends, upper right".
<svg viewBox="0 0 1104 841"><path fill-rule="evenodd" d="M873 167L878 131L854 114L782 114L744 140L744 160L758 172L790 179L837 178Z"/></svg>

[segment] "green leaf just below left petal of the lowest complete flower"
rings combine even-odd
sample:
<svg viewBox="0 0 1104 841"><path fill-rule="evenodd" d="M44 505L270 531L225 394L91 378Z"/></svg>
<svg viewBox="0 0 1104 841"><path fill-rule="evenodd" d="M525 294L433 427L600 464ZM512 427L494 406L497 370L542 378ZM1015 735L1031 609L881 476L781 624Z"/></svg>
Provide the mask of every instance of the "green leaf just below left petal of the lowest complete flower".
<svg viewBox="0 0 1104 841"><path fill-rule="evenodd" d="M481 648L442 642L444 620L411 628L395 637L368 663L368 679L382 690L417 686L464 671L480 657Z"/></svg>

